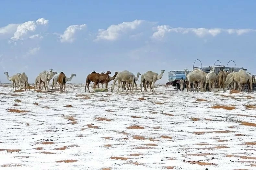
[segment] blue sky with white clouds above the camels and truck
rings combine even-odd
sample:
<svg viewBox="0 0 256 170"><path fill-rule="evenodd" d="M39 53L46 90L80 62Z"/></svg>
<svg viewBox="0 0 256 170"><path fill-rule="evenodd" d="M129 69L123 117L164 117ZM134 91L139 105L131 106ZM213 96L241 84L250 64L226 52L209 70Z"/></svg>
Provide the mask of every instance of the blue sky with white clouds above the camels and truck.
<svg viewBox="0 0 256 170"><path fill-rule="evenodd" d="M0 80L43 70L160 73L234 60L256 74L256 1L0 1ZM218 63L216 63L218 64ZM195 66L200 66L196 62ZM229 66L234 66L230 63Z"/></svg>

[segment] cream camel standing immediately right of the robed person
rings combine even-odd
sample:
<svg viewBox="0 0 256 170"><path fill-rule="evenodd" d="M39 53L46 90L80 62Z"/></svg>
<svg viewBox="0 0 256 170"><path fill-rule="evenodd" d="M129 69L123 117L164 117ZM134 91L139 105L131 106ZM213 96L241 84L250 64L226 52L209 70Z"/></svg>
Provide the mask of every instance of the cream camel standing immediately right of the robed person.
<svg viewBox="0 0 256 170"><path fill-rule="evenodd" d="M196 86L195 82L199 82L198 85L200 85L200 87L201 87L200 90L202 92L205 77L206 77L206 75L201 70L194 69L192 72L190 72L186 77L187 87L190 89L190 92L192 92L191 87L190 87L190 84L192 81L194 82L195 86ZM187 90L187 92L188 92L188 90ZM194 92L194 88L193 88L193 92Z"/></svg>

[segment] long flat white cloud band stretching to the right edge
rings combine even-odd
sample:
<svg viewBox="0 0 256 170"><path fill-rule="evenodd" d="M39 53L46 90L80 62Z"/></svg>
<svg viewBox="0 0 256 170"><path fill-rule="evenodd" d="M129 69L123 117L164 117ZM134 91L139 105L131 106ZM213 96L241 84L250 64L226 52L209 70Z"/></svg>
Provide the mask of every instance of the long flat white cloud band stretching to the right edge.
<svg viewBox="0 0 256 170"><path fill-rule="evenodd" d="M225 33L225 32L227 32L228 34L237 34L237 35L242 35L249 32L256 32L256 30L253 30L253 29L222 29L222 28L207 29L207 28L182 28L182 27L172 28L169 25L158 25L156 28L154 28L154 30L156 32L154 32L154 34L152 35L152 38L158 39L158 40L162 40L163 37L166 35L166 33L169 33L169 32L176 32L181 34L194 33L199 37L204 37L206 35L216 36L220 33Z"/></svg>

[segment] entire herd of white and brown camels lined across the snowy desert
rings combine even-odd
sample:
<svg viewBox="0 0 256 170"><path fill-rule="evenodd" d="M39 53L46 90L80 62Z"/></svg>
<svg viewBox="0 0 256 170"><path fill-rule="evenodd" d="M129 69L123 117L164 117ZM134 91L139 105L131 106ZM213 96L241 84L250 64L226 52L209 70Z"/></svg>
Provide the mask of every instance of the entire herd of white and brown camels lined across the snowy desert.
<svg viewBox="0 0 256 170"><path fill-rule="evenodd" d="M21 89L21 84L23 84L23 90L30 90L30 86L28 83L28 76L23 72L23 73L17 73L16 75L13 75L9 77L8 72L4 73L7 76L7 79L12 82L13 84L13 89L17 87L17 84L19 84L19 88ZM85 85L85 92L86 88L89 90L89 84L90 82L93 82L93 88L95 89L96 86L99 84L106 84L105 88L108 88L108 83L113 80L113 84L111 86L111 92L113 92L115 83L118 81L118 92L119 89L122 92L123 90L127 91L133 91L134 85L135 85L135 91L137 91L137 84L136 81L139 79L140 73L137 73L137 76L135 76L132 72L129 72L127 70L124 70L122 72L115 72L114 76L110 76L111 72L107 71L106 73L96 73L93 71L91 74L87 75L86 77L86 85ZM147 91L148 85L150 85L150 91L155 91L155 82L159 79L162 78L164 74L164 70L161 70L160 75L158 75L155 72L152 71L147 71L146 73L141 75L141 92L142 92L142 84L144 87L144 91ZM187 73L187 69L185 69L185 74L186 74L186 87L187 87L187 92L188 89L190 89L191 92L191 83L193 82L193 85L195 86L196 91L197 90L197 85L200 86L200 91L202 92L203 90L206 91L206 85L209 84L209 89L210 91L213 91L216 87L218 86L218 90L220 91L221 87L223 90L225 88L229 87L229 89L237 89L237 84L238 88L240 91L242 91L242 84L248 83L248 92L251 92L252 88L252 77L250 73L245 72L244 70L239 70L238 72L232 72L228 73L225 72L224 69L221 69L218 75L215 74L214 72L214 67L212 67L211 71L207 74L202 70L199 69L194 69L190 73ZM52 69L50 69L50 72L44 70L41 72L35 79L35 90L37 88L37 83L39 83L39 90L42 90L41 83L43 83L43 87L46 92L48 92L48 85L50 80L52 80L52 89L55 87L57 83L60 85L60 90L63 91L64 87L64 92L66 92L66 82L71 81L72 78L76 76L76 74L71 74L70 78L68 78L63 72L60 72L59 74L57 72L53 72ZM125 88L126 85L126 88ZM89 90L90 92L90 90ZM193 87L193 92L194 92L194 87Z"/></svg>

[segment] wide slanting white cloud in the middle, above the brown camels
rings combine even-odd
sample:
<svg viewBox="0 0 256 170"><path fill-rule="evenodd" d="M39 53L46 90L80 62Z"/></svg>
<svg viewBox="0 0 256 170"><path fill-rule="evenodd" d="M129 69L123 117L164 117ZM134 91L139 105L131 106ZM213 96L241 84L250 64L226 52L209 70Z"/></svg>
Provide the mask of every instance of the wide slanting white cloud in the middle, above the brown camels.
<svg viewBox="0 0 256 170"><path fill-rule="evenodd" d="M107 30L104 29L99 29L99 33L95 39L95 41L98 40L109 40L109 41L114 41L117 40L118 37L120 36L121 33L125 33L130 30L134 30L140 25L144 23L150 23L145 20L134 20L132 22L123 22L118 25L111 25L108 27ZM152 22L153 23L153 22Z"/></svg>

